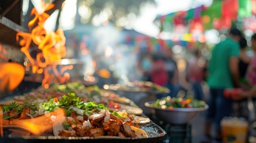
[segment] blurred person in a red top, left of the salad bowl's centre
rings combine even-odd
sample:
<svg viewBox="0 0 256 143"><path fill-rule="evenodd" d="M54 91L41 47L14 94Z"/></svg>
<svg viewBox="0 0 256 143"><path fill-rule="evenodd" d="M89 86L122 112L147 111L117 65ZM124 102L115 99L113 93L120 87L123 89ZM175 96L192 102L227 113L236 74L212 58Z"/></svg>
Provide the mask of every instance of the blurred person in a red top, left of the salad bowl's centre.
<svg viewBox="0 0 256 143"><path fill-rule="evenodd" d="M159 55L153 57L153 64L150 69L150 79L153 83L165 86L168 82L168 73L165 69L165 62Z"/></svg>

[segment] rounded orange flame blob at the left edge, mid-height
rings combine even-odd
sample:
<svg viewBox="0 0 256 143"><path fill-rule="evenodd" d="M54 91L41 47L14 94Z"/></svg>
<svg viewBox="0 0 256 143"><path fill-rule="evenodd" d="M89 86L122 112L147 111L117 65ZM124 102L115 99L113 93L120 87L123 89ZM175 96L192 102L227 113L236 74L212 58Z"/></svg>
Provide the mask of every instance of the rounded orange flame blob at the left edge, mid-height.
<svg viewBox="0 0 256 143"><path fill-rule="evenodd" d="M13 91L23 80L24 67L17 63L0 64L0 91Z"/></svg>

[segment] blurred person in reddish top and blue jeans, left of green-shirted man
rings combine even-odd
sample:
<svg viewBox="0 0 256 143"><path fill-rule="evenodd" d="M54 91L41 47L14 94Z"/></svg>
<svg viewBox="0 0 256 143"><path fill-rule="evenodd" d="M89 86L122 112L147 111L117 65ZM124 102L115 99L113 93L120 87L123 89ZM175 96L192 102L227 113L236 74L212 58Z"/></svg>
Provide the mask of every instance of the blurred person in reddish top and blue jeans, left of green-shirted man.
<svg viewBox="0 0 256 143"><path fill-rule="evenodd" d="M201 82L203 81L204 64L200 62L201 53L196 50L193 57L187 61L187 80L191 82L196 100L204 100L203 89Z"/></svg>

